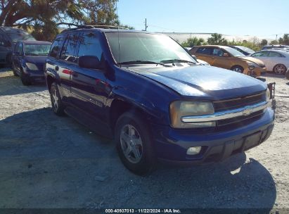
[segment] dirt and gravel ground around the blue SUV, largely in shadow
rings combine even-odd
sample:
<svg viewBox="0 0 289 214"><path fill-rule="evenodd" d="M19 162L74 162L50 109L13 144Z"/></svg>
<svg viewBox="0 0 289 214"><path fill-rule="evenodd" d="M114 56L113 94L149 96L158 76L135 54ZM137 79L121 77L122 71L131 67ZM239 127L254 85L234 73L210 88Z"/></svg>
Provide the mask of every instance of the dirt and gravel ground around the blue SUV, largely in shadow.
<svg viewBox="0 0 289 214"><path fill-rule="evenodd" d="M113 141L51 111L45 84L0 70L0 208L289 208L289 81L271 137L222 163L129 172Z"/></svg>

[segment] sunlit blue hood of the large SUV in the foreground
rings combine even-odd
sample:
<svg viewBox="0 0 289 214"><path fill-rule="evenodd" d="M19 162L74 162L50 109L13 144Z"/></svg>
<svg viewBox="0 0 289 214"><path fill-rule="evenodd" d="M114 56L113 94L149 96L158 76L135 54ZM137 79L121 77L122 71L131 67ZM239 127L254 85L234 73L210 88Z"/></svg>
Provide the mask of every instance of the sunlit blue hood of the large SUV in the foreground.
<svg viewBox="0 0 289 214"><path fill-rule="evenodd" d="M266 89L264 82L248 75L205 65L137 66L128 70L173 89L181 96L219 100L247 96Z"/></svg>

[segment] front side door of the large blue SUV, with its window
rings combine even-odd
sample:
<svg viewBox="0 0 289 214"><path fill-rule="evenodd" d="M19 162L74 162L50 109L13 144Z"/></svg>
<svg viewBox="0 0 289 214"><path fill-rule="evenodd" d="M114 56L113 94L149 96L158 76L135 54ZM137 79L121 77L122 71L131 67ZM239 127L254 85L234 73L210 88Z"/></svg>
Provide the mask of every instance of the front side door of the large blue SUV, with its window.
<svg viewBox="0 0 289 214"><path fill-rule="evenodd" d="M101 34L85 31L79 41L77 60L80 56L96 56L99 61L104 62ZM103 106L109 93L104 70L77 66L71 78L75 106L104 121Z"/></svg>

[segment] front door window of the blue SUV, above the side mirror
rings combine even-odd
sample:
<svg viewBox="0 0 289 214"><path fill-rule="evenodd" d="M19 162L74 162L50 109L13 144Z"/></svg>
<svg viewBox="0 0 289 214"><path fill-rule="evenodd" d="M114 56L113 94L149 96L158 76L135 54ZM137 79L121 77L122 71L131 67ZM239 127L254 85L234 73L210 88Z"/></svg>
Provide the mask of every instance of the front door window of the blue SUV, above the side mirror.
<svg viewBox="0 0 289 214"><path fill-rule="evenodd" d="M97 34L93 32L84 32L82 34L77 58L79 56L96 56L99 61L102 60L103 49Z"/></svg>

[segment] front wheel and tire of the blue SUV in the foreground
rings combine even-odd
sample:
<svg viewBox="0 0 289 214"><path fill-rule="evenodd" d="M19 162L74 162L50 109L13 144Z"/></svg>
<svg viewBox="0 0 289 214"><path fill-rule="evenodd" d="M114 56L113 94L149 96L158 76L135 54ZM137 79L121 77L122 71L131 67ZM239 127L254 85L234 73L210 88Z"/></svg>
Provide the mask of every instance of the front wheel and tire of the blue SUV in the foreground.
<svg viewBox="0 0 289 214"><path fill-rule="evenodd" d="M120 116L115 126L115 141L124 166L136 175L148 175L153 170L155 155L148 125L139 115L127 112Z"/></svg>

